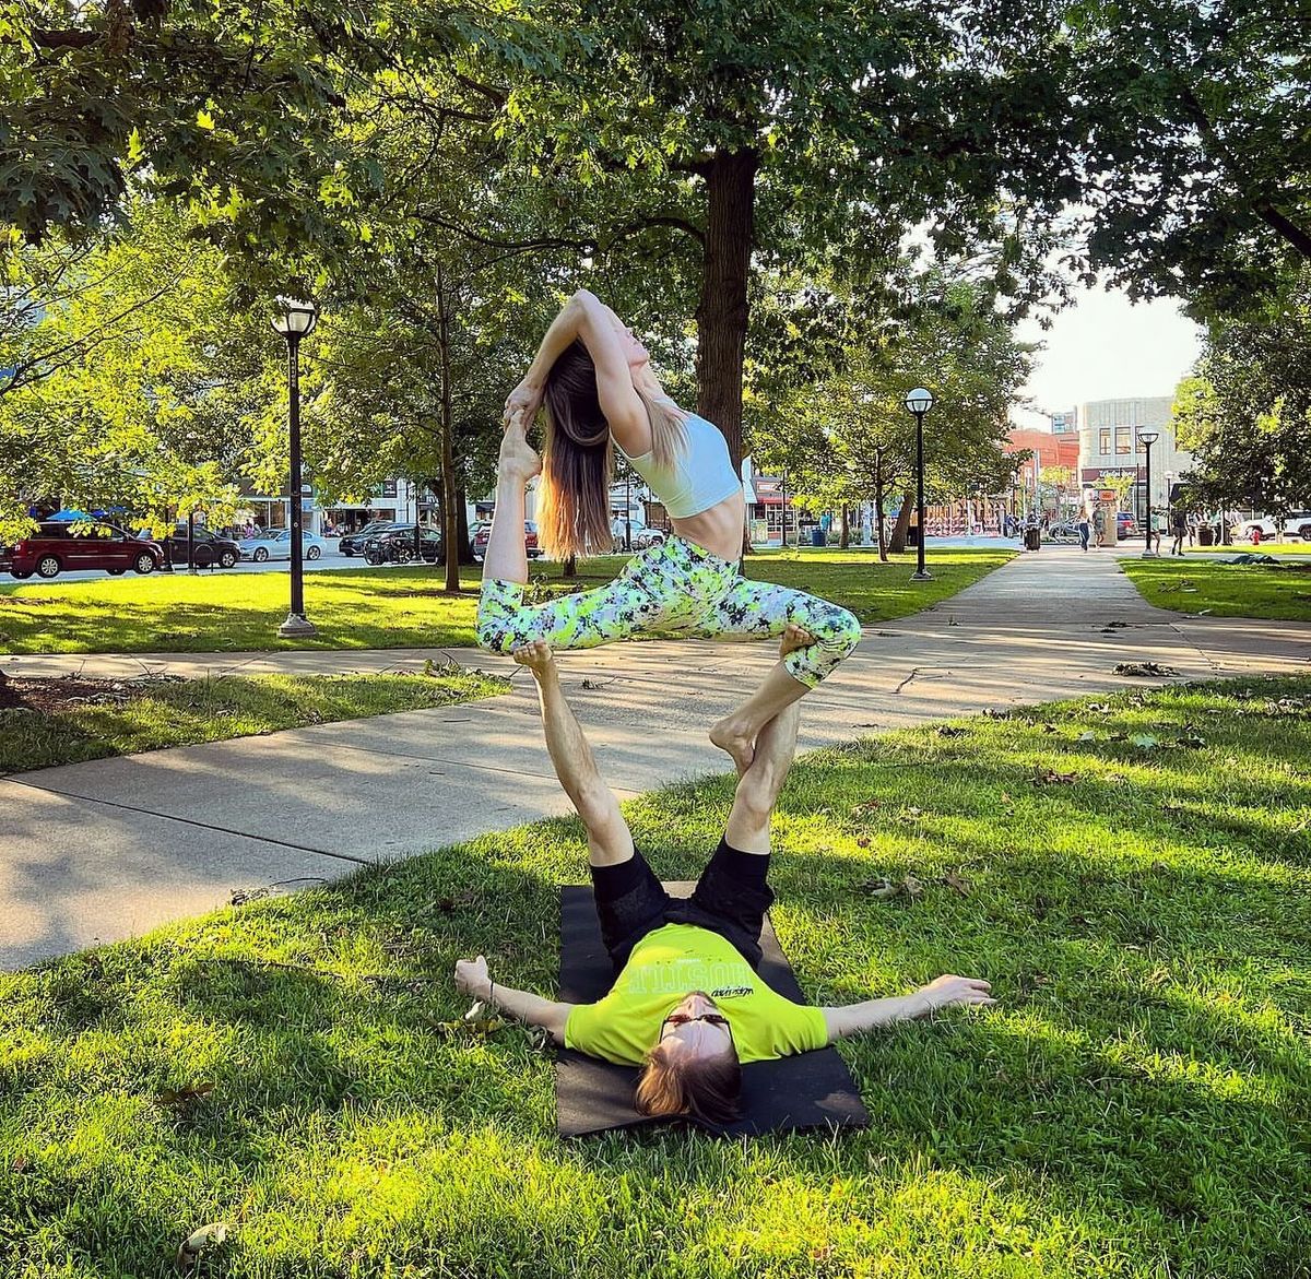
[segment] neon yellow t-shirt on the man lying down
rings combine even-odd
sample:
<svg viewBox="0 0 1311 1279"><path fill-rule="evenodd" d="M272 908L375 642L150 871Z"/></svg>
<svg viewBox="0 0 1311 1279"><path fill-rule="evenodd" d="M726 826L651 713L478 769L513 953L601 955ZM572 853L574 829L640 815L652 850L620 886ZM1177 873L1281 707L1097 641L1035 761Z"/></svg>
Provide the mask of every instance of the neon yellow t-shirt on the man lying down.
<svg viewBox="0 0 1311 1279"><path fill-rule="evenodd" d="M565 1044L637 1065L656 1046L661 1022L691 991L704 991L728 1017L742 1063L809 1052L829 1042L822 1009L772 991L728 938L695 924L666 924L633 947L604 999L574 1006Z"/></svg>

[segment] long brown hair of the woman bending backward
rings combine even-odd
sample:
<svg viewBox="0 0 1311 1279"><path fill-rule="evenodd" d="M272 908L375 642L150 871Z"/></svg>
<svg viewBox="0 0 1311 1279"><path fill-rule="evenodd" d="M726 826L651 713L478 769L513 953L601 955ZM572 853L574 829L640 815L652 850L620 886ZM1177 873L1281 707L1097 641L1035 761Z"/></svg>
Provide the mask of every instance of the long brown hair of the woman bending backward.
<svg viewBox="0 0 1311 1279"><path fill-rule="evenodd" d="M683 413L673 400L637 392L652 425L652 452L662 468L687 446ZM545 387L547 434L538 489L541 549L557 560L608 552L610 482L615 448L597 392L597 366L582 341L560 353Z"/></svg>

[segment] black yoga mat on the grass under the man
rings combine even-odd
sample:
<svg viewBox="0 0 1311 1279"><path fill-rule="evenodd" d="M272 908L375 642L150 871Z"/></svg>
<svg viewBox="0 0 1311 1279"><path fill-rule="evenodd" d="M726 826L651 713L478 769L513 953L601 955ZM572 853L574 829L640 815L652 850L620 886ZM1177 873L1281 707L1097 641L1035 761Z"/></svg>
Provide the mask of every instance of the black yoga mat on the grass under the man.
<svg viewBox="0 0 1311 1279"><path fill-rule="evenodd" d="M666 883L671 896L686 898L691 882ZM787 999L806 1002L770 920L760 934L760 976ZM612 985L615 970L600 940L600 921L590 887L560 890L560 999L593 1004ZM869 1115L847 1063L832 1048L802 1052L742 1067L742 1118L733 1124L703 1123L688 1117L649 1119L633 1109L637 1069L598 1061L572 1048L556 1058L556 1117L560 1135L587 1136L610 1128L694 1123L721 1136L756 1135L798 1128L864 1127Z"/></svg>

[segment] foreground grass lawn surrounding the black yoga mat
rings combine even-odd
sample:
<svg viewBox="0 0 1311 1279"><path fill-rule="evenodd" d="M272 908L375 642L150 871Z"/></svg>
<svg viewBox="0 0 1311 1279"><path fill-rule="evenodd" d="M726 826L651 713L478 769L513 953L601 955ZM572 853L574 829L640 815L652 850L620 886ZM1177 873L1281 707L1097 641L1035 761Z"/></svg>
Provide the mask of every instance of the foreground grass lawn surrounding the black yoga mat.
<svg viewBox="0 0 1311 1279"><path fill-rule="evenodd" d="M659 873L729 795L627 806ZM0 1269L163 1279L223 1221L205 1276L1299 1279L1308 827L1311 679L808 756L773 869L802 988L1000 1000L846 1042L873 1123L836 1137L562 1144L551 1058L450 1025L460 955L553 992L572 820L0 975Z"/></svg>

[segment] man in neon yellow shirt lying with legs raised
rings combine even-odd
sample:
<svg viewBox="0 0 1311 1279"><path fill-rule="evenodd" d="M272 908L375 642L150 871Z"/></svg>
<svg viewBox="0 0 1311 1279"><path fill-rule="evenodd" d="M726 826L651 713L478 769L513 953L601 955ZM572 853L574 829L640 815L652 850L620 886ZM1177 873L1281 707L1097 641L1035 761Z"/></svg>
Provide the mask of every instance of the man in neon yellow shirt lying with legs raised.
<svg viewBox="0 0 1311 1279"><path fill-rule="evenodd" d="M809 636L789 626L781 655ZM755 972L760 928L773 902L770 824L797 744L796 705L756 738L738 780L724 839L687 902L671 899L633 847L619 801L597 769L565 701L551 649L515 653L538 681L547 748L556 776L587 827L587 862L615 984L595 1004L560 1004L493 984L486 961L461 959L455 984L556 1043L607 1061L641 1065L637 1110L692 1114L711 1123L737 1118L741 1065L788 1056L952 1004L992 1004L988 983L941 976L914 995L813 1008L776 995Z"/></svg>

